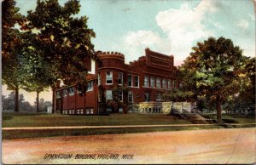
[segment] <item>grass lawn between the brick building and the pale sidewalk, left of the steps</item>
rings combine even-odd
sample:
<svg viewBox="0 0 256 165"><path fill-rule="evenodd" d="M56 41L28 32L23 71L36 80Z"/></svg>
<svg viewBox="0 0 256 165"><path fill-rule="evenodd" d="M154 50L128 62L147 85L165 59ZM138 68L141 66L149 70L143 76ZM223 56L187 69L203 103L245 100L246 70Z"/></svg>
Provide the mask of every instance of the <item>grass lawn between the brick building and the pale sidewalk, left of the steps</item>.
<svg viewBox="0 0 256 165"><path fill-rule="evenodd" d="M3 128L51 126L111 126L185 124L187 120L164 114L112 114L110 116L68 116L3 113Z"/></svg>

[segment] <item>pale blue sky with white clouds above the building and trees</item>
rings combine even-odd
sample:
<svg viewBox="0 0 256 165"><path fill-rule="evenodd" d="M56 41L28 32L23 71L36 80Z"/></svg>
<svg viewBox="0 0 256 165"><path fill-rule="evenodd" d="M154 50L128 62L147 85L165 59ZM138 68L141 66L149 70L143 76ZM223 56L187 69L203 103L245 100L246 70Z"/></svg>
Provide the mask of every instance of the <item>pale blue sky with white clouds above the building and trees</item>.
<svg viewBox="0 0 256 165"><path fill-rule="evenodd" d="M256 0L255 0L256 1ZM36 8L36 0L19 0L21 14ZM66 0L59 0L61 4ZM80 0L75 16L86 15L96 32L95 50L125 54L137 60L150 48L174 56L181 65L197 42L208 37L230 38L246 56L255 56L253 0ZM20 91L24 93L24 91ZM3 95L9 94L3 86ZM44 100L51 100L44 92ZM35 93L24 93L33 104Z"/></svg>

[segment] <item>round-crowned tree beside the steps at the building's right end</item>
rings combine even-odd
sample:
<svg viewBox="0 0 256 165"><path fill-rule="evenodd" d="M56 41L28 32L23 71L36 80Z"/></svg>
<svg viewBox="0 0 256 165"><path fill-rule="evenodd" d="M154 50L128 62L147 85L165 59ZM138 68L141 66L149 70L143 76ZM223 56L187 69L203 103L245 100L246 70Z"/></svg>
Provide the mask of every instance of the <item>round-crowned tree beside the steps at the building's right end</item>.
<svg viewBox="0 0 256 165"><path fill-rule="evenodd" d="M209 37L192 50L180 67L183 87L214 102L218 122L221 122L221 105L249 83L244 70L247 57L242 55L241 48L224 37Z"/></svg>

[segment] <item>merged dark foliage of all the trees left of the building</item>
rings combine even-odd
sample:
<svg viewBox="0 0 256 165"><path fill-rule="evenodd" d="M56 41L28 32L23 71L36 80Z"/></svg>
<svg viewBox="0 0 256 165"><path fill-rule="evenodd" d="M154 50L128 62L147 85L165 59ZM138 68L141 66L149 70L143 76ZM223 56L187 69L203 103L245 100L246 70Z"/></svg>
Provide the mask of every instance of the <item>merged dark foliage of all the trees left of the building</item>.
<svg viewBox="0 0 256 165"><path fill-rule="evenodd" d="M78 83L85 94L84 60L98 59L90 41L95 33L87 26L88 18L75 17L79 1L61 6L58 0L38 0L36 9L26 17L18 13L14 0L3 1L2 7L3 83L15 90L16 100L20 88L39 93L49 86L55 88L58 80Z"/></svg>

